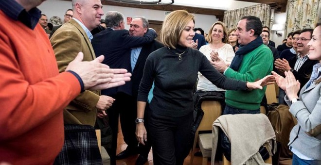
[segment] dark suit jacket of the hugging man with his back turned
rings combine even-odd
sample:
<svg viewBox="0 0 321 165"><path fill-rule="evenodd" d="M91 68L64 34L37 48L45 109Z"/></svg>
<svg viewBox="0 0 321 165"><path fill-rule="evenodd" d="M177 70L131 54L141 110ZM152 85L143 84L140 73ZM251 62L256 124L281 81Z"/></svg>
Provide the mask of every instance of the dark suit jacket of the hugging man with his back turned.
<svg viewBox="0 0 321 165"><path fill-rule="evenodd" d="M130 49L150 43L157 36L153 30L148 30L143 37L131 36L127 30L106 30L97 33L91 40L96 56L104 55L103 64L110 68L125 68L131 72ZM125 85L102 90L103 95L115 95L117 92L124 92L132 95L131 82Z"/></svg>

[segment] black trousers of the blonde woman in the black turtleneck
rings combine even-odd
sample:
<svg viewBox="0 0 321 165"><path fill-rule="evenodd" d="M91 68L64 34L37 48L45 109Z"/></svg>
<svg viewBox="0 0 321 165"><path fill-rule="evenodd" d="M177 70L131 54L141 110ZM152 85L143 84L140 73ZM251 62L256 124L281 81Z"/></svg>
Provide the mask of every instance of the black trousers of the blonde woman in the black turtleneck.
<svg viewBox="0 0 321 165"><path fill-rule="evenodd" d="M183 165L191 149L193 112L182 117L148 114L154 165Z"/></svg>

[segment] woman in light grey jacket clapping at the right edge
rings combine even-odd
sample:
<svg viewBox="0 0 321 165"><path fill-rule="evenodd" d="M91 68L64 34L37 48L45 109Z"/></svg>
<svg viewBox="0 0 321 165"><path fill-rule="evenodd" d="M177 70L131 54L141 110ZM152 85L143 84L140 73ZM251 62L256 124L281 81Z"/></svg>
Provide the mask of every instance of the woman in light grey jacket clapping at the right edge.
<svg viewBox="0 0 321 165"><path fill-rule="evenodd" d="M299 40L308 42L309 59L319 61L313 66L310 80L300 91L300 82L291 71L285 72L285 78L272 73L279 87L285 90L289 111L298 121L288 144L293 152L292 165L321 165L321 23L314 29L312 39Z"/></svg>

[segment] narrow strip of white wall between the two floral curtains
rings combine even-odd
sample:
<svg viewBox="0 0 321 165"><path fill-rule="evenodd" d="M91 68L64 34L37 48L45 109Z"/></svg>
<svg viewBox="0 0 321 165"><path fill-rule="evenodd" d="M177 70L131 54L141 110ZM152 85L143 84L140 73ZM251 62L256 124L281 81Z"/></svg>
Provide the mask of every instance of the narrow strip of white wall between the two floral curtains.
<svg viewBox="0 0 321 165"><path fill-rule="evenodd" d="M275 13L274 14L274 23L273 24L282 24L285 25L286 21L286 13ZM272 28L272 27L271 27ZM282 44L283 39L286 38L287 34L285 34L285 30L278 31L278 33L282 33L282 36L277 36L275 31L272 32L271 40L275 42L275 47Z"/></svg>

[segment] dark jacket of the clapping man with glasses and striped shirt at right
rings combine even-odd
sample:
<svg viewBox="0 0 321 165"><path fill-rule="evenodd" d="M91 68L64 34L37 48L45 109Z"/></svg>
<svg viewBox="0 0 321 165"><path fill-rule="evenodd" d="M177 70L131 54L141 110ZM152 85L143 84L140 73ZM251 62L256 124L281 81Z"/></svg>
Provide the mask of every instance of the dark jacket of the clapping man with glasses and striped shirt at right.
<svg viewBox="0 0 321 165"><path fill-rule="evenodd" d="M294 68L296 61L297 61L297 56L290 58L289 61L288 61L289 62L289 66L291 68ZM313 66L315 64L317 64L317 63L319 63L318 60L307 59L303 63L303 65L300 67L299 70L293 70L292 73L293 73L295 79L299 80L299 82L300 82L300 89L302 89L304 84L309 81L310 75L312 73Z"/></svg>

